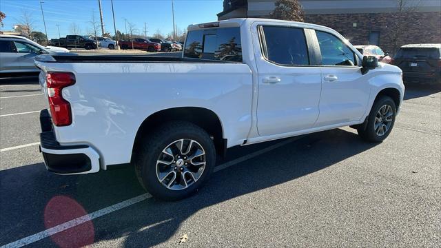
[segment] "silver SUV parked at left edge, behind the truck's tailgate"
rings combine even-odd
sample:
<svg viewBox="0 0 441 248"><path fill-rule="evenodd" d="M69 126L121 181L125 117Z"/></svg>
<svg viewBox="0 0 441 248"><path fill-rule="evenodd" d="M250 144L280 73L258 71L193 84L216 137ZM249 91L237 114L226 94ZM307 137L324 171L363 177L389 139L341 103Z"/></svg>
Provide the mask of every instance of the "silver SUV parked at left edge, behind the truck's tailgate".
<svg viewBox="0 0 441 248"><path fill-rule="evenodd" d="M30 39L0 34L0 76L15 72L39 72L34 57L39 54L69 54L65 48L43 47ZM73 54L72 54L73 55Z"/></svg>

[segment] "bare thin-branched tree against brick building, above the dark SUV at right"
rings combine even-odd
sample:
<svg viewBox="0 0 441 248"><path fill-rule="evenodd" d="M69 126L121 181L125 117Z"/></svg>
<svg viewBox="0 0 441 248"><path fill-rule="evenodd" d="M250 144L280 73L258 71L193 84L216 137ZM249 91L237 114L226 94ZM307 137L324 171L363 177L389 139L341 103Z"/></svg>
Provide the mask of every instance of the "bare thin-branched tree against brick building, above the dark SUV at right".
<svg viewBox="0 0 441 248"><path fill-rule="evenodd" d="M392 27L389 29L391 32L391 41L393 44L393 52L395 53L400 45L402 45L403 34L407 30L407 25L413 23L416 20L416 16L412 13L418 10L420 6L420 0L396 0L397 12L392 21Z"/></svg>

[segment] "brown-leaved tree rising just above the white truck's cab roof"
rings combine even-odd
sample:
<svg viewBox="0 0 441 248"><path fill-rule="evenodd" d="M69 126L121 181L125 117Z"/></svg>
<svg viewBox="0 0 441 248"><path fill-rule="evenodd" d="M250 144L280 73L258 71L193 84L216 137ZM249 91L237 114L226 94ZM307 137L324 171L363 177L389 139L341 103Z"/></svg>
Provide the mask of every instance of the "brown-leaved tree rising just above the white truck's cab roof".
<svg viewBox="0 0 441 248"><path fill-rule="evenodd" d="M298 0L277 0L276 8L269 13L269 18L285 21L303 21L305 13Z"/></svg>

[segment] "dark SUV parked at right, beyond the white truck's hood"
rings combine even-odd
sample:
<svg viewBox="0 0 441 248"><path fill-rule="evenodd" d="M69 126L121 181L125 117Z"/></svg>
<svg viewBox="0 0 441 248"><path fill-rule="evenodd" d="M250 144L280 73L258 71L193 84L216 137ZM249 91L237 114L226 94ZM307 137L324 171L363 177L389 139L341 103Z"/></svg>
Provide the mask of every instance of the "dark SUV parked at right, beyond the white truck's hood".
<svg viewBox="0 0 441 248"><path fill-rule="evenodd" d="M402 70L404 82L441 83L441 44L403 45L393 65Z"/></svg>

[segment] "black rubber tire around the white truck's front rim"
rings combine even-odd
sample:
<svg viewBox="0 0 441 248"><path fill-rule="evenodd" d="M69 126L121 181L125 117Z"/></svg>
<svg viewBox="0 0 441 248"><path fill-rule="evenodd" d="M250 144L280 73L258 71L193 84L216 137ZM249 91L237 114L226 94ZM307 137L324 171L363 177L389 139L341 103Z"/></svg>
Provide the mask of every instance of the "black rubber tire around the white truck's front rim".
<svg viewBox="0 0 441 248"><path fill-rule="evenodd" d="M378 112L384 105L389 105L392 108L393 115L391 116L391 123L389 129L387 129L387 132L384 132L384 134L382 135L378 135L375 129L375 121ZM380 96L380 98L378 98L375 101L375 103L373 103L371 112L367 117L366 128L363 128L363 125L358 126L357 128L358 135L360 135L360 137L363 138L365 141L369 141L373 143L384 141L384 139L387 138L387 136L389 136L389 134L393 129L393 125L395 124L396 114L397 114L397 110L396 110L395 102L389 96Z"/></svg>

